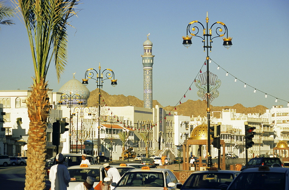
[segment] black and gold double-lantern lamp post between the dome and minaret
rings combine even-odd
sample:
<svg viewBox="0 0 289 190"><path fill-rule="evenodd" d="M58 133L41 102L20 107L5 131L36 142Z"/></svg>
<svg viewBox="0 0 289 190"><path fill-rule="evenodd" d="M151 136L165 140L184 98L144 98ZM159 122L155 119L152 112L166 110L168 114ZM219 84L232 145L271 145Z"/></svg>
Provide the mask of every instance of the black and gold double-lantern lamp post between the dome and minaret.
<svg viewBox="0 0 289 190"><path fill-rule="evenodd" d="M100 152L100 88L102 88L102 83L104 80L106 79L111 79L111 85L112 86L116 86L117 85L117 79L114 79L114 72L112 71L112 69L104 69L101 72L101 67L100 67L100 63L99 63L99 72L97 72L97 70L95 69L87 69L84 75L84 79L82 79L82 84L83 85L87 85L88 84L88 79L94 79L96 80L97 83L97 88L99 89L99 93L98 93L98 136L97 136L97 164L99 164L99 152ZM95 77L95 73L96 73L96 77ZM104 75L104 77L103 77ZM87 77L87 78L86 78Z"/></svg>

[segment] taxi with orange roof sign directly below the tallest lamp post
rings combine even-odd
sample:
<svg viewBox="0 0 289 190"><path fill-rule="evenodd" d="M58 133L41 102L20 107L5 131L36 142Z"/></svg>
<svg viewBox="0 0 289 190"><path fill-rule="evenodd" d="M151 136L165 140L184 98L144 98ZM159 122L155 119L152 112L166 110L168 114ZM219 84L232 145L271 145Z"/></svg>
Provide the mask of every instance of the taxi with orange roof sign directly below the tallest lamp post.
<svg viewBox="0 0 289 190"><path fill-rule="evenodd" d="M218 170L211 167L205 171L192 173L184 182L184 185L177 185L179 189L227 189L233 179L240 174L240 171Z"/></svg>

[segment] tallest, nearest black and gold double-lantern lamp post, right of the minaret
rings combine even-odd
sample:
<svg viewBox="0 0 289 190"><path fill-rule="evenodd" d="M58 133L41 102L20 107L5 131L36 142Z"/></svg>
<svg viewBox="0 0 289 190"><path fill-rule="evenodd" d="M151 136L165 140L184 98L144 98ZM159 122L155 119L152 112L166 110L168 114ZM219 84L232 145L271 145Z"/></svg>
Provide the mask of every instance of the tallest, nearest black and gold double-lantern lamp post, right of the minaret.
<svg viewBox="0 0 289 190"><path fill-rule="evenodd" d="M207 167L212 167L213 163L212 163L212 156L211 156L211 142L210 142L210 100L212 101L212 99L210 98L210 96L212 95L210 92L210 72L209 72L209 49L211 52L212 49L212 39L214 39L215 37L223 37L225 34L227 34L227 37L223 37L223 46L225 48L230 48L232 46L232 38L228 37L228 29L227 26L223 23L223 22L215 22L210 28L208 25L209 22L209 18L208 18L208 12L207 12L207 18L206 18L206 28L204 27L204 25L201 22L198 22L197 20L194 20L192 22L190 22L187 26L187 36L183 36L183 45L185 47L189 47L190 45L192 45L192 36L197 36L200 37L202 39L202 42L204 43L203 48L204 51L207 50L207 103L208 103L208 107L207 107L207 117L208 117L208 162L207 162ZM192 26L194 24L199 23L202 27L203 30L203 37L202 36L198 36L199 33L199 28L197 26ZM214 27L215 24L221 24L221 27L216 27L216 36L212 37L212 27ZM191 28L192 27L192 28ZM190 32L190 28L191 28L191 32ZM197 29L197 31L195 31ZM208 30L207 30L208 29ZM224 30L224 31L223 31ZM189 36L188 33L192 36Z"/></svg>

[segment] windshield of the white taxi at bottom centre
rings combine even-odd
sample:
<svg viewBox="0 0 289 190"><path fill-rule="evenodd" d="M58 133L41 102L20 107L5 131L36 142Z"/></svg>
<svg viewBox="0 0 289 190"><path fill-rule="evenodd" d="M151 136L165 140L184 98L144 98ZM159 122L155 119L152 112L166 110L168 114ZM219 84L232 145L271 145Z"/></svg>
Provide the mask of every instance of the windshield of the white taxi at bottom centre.
<svg viewBox="0 0 289 190"><path fill-rule="evenodd" d="M164 187L162 172L128 172L118 182L116 187Z"/></svg>

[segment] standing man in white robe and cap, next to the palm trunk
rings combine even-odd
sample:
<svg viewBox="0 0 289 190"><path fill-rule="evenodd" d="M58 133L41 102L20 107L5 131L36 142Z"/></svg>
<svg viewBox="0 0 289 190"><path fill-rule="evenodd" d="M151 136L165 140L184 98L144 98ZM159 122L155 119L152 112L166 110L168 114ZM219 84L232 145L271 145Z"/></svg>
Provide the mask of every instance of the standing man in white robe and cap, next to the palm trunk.
<svg viewBox="0 0 289 190"><path fill-rule="evenodd" d="M61 153L55 157L57 164L50 168L49 181L51 190L66 190L69 187L70 175L67 167L63 165L64 157Z"/></svg>

